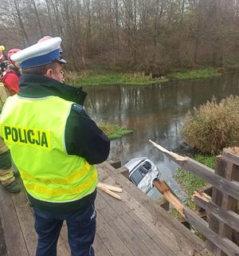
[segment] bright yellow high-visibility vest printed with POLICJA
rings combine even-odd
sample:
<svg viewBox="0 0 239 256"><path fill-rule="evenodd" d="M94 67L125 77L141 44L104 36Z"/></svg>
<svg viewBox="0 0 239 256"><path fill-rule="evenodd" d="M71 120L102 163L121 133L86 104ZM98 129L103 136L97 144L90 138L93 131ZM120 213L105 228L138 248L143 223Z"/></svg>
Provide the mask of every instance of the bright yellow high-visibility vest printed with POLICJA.
<svg viewBox="0 0 239 256"><path fill-rule="evenodd" d="M72 102L57 96L6 100L0 135L10 148L26 190L36 199L69 202L91 194L96 168L65 151L65 124Z"/></svg>

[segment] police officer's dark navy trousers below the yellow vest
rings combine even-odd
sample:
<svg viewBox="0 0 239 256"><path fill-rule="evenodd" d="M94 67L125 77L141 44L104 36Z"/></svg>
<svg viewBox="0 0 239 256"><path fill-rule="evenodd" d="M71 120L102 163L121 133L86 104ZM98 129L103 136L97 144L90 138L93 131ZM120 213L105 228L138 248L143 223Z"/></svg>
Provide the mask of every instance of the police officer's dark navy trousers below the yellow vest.
<svg viewBox="0 0 239 256"><path fill-rule="evenodd" d="M87 209L72 212L43 211L33 207L35 229L38 234L36 256L57 256L57 240L63 221L68 227L68 240L72 256L94 256L92 243L96 234L94 204Z"/></svg>

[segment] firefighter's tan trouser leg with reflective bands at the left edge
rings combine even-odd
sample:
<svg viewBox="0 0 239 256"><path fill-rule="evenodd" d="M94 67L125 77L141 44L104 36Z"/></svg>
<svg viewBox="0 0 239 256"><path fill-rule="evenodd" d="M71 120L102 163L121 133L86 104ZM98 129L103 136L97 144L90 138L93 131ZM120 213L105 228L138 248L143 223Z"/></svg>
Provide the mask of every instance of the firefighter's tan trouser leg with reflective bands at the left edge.
<svg viewBox="0 0 239 256"><path fill-rule="evenodd" d="M3 186L15 180L9 149L0 137L0 181Z"/></svg>

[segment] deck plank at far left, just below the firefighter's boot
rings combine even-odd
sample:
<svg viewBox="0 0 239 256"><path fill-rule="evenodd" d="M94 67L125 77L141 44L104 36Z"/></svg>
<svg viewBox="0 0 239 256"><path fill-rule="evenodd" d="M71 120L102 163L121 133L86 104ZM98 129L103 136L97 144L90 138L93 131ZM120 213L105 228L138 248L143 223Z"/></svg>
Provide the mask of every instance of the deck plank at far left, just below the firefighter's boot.
<svg viewBox="0 0 239 256"><path fill-rule="evenodd" d="M11 195L2 186L0 187L0 203L0 215L7 255L29 256Z"/></svg>

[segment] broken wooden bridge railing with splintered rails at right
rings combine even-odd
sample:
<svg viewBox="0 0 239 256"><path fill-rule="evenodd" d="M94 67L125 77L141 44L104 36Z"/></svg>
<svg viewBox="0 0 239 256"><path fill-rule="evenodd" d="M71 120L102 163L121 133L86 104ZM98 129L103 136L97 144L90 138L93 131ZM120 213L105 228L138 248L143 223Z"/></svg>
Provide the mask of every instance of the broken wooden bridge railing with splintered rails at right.
<svg viewBox="0 0 239 256"><path fill-rule="evenodd" d="M224 149L222 155L217 156L217 166L213 170L150 142L184 170L198 175L213 186L212 196L200 191L194 193L194 202L206 210L208 223L174 198L166 183L155 181L155 187L161 190L187 222L206 237L208 249L215 255L239 256L239 148Z"/></svg>

